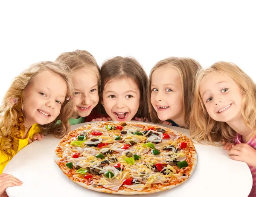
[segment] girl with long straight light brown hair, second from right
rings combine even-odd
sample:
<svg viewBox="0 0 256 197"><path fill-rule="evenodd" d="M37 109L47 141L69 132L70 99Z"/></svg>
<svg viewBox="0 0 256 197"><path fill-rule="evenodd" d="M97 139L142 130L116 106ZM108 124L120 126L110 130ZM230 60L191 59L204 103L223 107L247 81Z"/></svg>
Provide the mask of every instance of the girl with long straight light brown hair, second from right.
<svg viewBox="0 0 256 197"><path fill-rule="evenodd" d="M151 121L189 128L195 76L201 65L191 58L169 57L151 69L148 103Z"/></svg>

